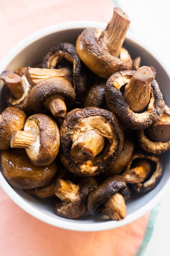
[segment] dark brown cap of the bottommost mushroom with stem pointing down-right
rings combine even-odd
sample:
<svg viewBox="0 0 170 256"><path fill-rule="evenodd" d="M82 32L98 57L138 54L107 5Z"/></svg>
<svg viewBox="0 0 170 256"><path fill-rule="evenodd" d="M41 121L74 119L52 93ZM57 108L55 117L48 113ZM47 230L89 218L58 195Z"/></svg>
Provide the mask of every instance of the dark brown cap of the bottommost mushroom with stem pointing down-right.
<svg viewBox="0 0 170 256"><path fill-rule="evenodd" d="M87 208L90 214L97 214L101 209L101 204L107 201L111 196L118 191L121 192L126 187L124 178L120 175L114 175L101 183L97 188L93 189L87 199Z"/></svg>

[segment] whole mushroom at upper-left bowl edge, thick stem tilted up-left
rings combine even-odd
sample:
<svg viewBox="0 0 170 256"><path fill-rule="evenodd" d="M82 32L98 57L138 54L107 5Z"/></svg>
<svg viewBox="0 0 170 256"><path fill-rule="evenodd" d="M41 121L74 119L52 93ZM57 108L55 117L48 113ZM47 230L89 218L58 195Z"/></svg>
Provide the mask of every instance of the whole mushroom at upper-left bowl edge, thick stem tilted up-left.
<svg viewBox="0 0 170 256"><path fill-rule="evenodd" d="M5 105L13 106L30 113L33 111L29 102L31 85L25 77L25 69L20 68L15 70L15 72L5 70L1 73L0 79L5 83L2 89Z"/></svg>

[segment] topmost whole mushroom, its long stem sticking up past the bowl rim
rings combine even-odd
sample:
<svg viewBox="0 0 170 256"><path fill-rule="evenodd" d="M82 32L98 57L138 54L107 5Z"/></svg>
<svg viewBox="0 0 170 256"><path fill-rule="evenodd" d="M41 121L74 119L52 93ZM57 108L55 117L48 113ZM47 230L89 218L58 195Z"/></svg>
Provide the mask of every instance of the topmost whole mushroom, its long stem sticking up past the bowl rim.
<svg viewBox="0 0 170 256"><path fill-rule="evenodd" d="M132 59L123 41L130 20L120 8L114 8L113 16L104 30L86 28L78 37L76 50L79 58L95 74L107 79L114 72L132 68Z"/></svg>

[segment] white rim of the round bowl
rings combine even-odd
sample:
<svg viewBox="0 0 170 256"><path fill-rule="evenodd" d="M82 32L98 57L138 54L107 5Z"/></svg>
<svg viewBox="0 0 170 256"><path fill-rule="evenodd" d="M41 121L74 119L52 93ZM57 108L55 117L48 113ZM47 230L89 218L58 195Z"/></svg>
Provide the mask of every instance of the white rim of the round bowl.
<svg viewBox="0 0 170 256"><path fill-rule="evenodd" d="M21 52L27 46L29 46L36 40L41 39L44 36L48 36L50 34L53 34L59 31L68 30L68 29L80 29L80 28L86 28L86 27L99 27L101 29L104 29L106 25L107 25L106 23L94 22L94 21L73 21L73 22L59 23L59 24L38 30L37 32L33 33L32 35L28 36L27 38L19 42L14 48L10 50L10 52L1 61L0 72L2 72L7 67L10 61L12 61L12 59L14 59L14 57L17 56L19 52ZM134 41L136 44L140 45L143 49L145 49L146 51L149 51L149 53L154 58L156 58L159 64L163 67L163 69L166 71L170 79L170 69L167 62L158 54L158 52L156 52L153 49L153 47L149 46L146 42L144 42L138 36L134 35L129 31L127 32L126 39ZM64 218L63 220L57 219L39 211L38 209L31 206L28 202L26 202L23 198L21 198L20 195L16 193L16 191L7 183L7 181L5 180L1 172L0 172L0 186L5 191L5 193L20 208L22 208L24 211L26 211L33 217L45 223L48 223L55 227L74 230L74 231L101 231L101 230L108 230L112 228L121 227L123 225L126 225L140 218L141 216L149 212L154 206L156 206L161 201L161 199L169 191L170 177L166 181L163 188L158 192L158 194L156 194L146 205L144 205L137 211L133 212L132 214L129 214L123 220L120 220L120 221L109 220L101 223L75 223L75 222L70 222L69 220L64 220Z"/></svg>

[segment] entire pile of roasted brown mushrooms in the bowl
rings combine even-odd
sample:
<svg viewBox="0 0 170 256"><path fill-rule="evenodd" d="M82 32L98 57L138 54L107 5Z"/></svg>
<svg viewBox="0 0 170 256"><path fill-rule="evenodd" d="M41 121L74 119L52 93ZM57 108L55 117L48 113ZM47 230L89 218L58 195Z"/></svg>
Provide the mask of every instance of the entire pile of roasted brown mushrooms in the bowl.
<svg viewBox="0 0 170 256"><path fill-rule="evenodd" d="M58 216L124 219L126 200L163 175L170 108L154 67L122 47L129 24L114 8L104 30L86 28L76 46L52 47L42 68L0 75L1 172L11 186L52 197Z"/></svg>

